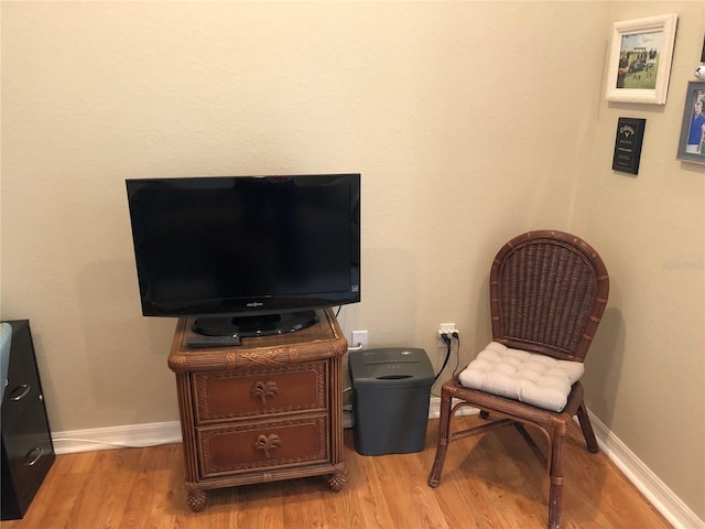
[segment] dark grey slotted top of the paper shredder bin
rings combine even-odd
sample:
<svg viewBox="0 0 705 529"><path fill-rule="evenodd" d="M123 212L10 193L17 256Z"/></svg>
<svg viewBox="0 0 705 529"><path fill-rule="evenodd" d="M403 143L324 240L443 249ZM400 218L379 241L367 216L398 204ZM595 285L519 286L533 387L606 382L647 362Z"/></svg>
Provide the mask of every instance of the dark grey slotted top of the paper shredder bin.
<svg viewBox="0 0 705 529"><path fill-rule="evenodd" d="M415 347L386 347L350 352L352 386L433 384L434 374L426 352Z"/></svg>

